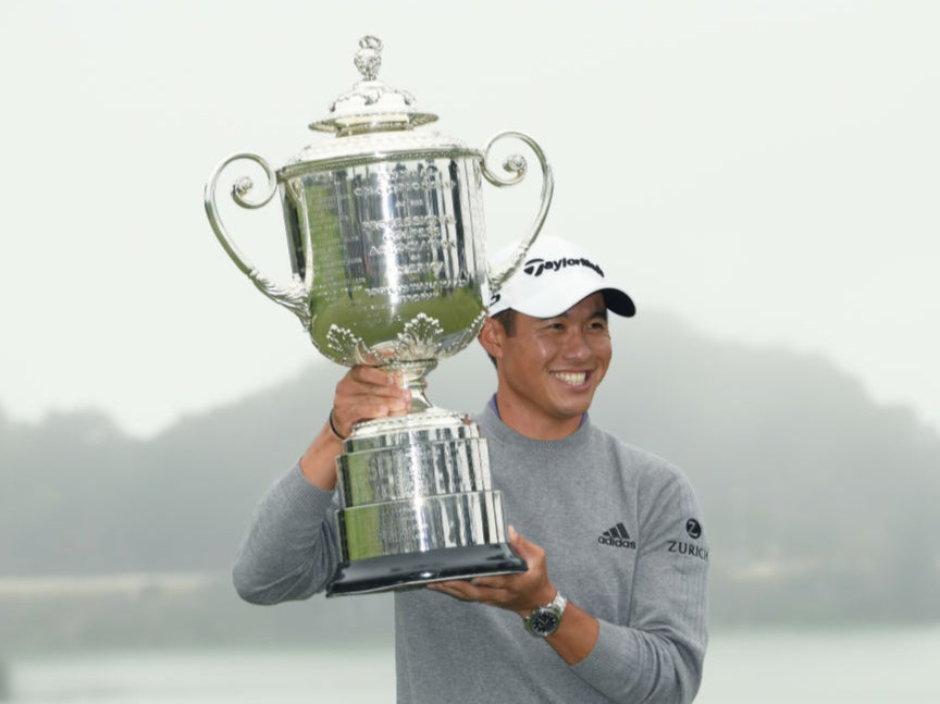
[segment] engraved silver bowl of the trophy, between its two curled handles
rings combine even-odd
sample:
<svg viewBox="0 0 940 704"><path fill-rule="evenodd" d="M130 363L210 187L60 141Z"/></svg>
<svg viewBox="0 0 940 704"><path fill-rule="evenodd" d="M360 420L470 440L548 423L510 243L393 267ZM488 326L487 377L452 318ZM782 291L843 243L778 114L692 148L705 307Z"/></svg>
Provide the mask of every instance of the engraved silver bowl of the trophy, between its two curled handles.
<svg viewBox="0 0 940 704"><path fill-rule="evenodd" d="M483 320L480 174L472 160L342 164L282 185L295 274L309 233L313 343L341 363L459 351Z"/></svg>

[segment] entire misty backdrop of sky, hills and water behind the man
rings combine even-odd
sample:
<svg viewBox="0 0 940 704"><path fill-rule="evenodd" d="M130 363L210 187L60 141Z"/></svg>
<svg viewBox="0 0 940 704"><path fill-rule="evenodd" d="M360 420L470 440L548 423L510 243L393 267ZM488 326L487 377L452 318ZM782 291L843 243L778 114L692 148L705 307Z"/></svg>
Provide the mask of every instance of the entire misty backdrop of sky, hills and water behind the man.
<svg viewBox="0 0 940 704"><path fill-rule="evenodd" d="M534 137L546 232L629 282L592 415L702 499L697 701L940 700L938 29L904 0L7 0L0 699L394 701L391 597L230 586L343 370L202 206L224 157L330 139L306 125L373 34L426 129ZM539 187L484 188L491 250ZM286 280L276 203L223 217ZM493 382L472 347L430 395Z"/></svg>

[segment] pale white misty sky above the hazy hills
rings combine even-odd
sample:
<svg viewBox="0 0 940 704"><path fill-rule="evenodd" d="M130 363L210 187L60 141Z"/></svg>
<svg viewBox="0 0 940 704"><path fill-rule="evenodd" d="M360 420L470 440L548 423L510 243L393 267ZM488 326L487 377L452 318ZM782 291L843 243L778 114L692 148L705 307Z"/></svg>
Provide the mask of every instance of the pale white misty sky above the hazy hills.
<svg viewBox="0 0 940 704"><path fill-rule="evenodd" d="M430 129L541 144L557 181L546 232L620 263L630 325L669 311L820 355L940 428L926 0L4 0L7 416L95 407L150 434L319 359L228 261L202 187L230 153L279 168L330 139L306 125L358 78L363 34L385 44L381 77L441 115ZM486 186L491 249L522 234L537 185L533 170ZM226 222L286 277L276 202Z"/></svg>

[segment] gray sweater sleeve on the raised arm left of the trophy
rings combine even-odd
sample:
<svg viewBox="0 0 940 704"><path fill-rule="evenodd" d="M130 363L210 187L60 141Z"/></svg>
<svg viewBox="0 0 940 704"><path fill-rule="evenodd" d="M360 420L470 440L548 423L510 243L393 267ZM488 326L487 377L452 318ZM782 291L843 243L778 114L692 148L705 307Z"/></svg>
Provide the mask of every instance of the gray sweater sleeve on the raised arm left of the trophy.
<svg viewBox="0 0 940 704"><path fill-rule="evenodd" d="M262 496L235 558L232 579L252 604L323 591L338 563L335 492L308 482L295 465Z"/></svg>

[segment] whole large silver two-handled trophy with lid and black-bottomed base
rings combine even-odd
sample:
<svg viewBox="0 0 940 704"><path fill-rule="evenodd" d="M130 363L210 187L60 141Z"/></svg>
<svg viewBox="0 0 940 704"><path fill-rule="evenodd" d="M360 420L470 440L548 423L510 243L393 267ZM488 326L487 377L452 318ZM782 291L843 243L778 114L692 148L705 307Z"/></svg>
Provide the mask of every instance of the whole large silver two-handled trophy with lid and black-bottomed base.
<svg viewBox="0 0 940 704"><path fill-rule="evenodd" d="M435 408L425 374L466 347L485 304L517 269L539 235L554 180L528 136L506 132L483 152L415 128L436 115L378 79L382 42L363 37L350 90L311 129L334 139L304 149L276 172L253 153L223 160L206 186L206 212L222 247L265 296L293 311L321 354L345 366L401 372L411 412L357 423L337 460L341 565L327 595L415 586L443 579L525 570L506 542L500 494L490 479L486 441L463 413ZM529 146L542 166L541 205L527 237L503 268L484 250L482 178L519 183L527 164L509 157L488 165L503 139ZM219 214L222 171L248 160L268 185L249 178L232 198L260 208L280 190L293 281L280 285L233 243Z"/></svg>

